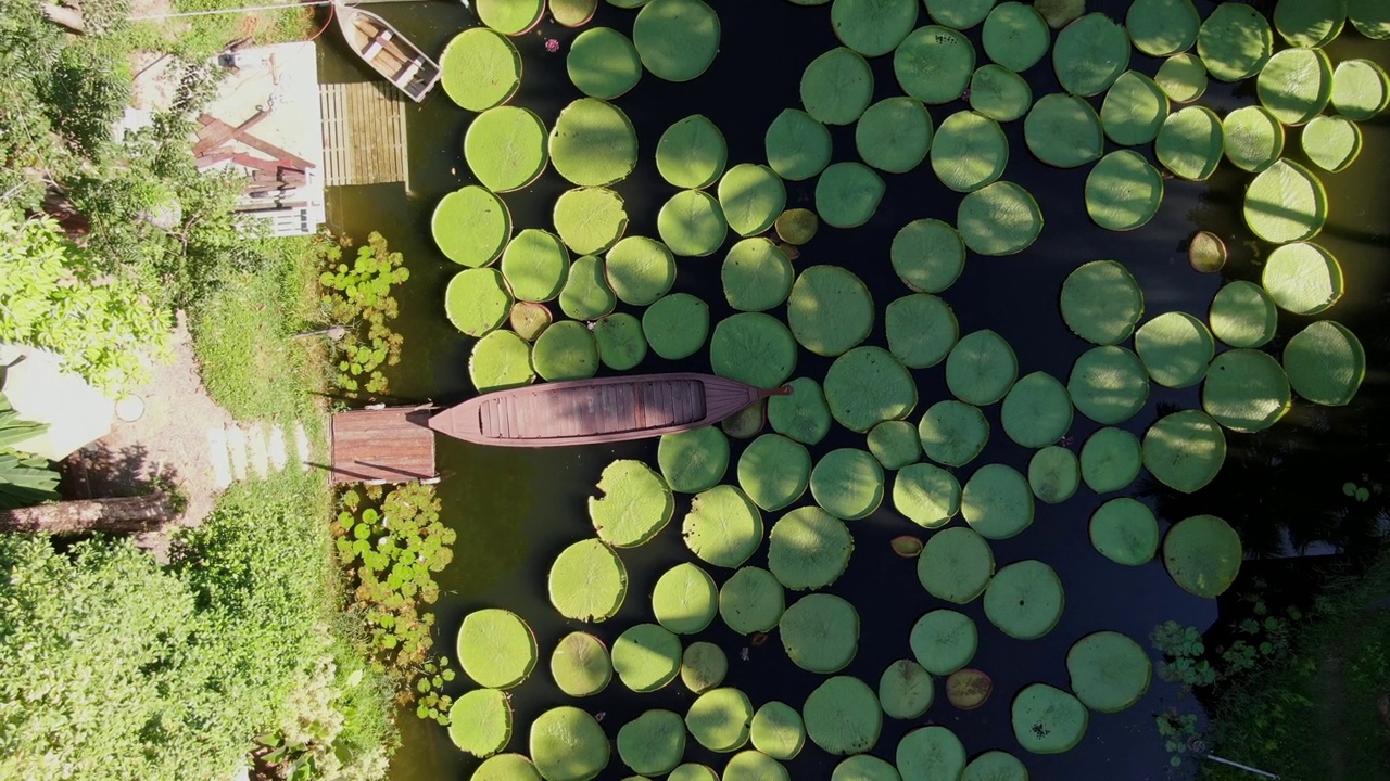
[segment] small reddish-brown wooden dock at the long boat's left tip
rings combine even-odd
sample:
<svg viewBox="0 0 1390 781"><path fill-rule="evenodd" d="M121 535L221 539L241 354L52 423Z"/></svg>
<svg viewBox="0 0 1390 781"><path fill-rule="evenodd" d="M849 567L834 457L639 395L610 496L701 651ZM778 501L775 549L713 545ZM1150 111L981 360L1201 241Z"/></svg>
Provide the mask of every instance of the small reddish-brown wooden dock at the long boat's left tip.
<svg viewBox="0 0 1390 781"><path fill-rule="evenodd" d="M432 481L435 407L350 410L332 420L332 482Z"/></svg>

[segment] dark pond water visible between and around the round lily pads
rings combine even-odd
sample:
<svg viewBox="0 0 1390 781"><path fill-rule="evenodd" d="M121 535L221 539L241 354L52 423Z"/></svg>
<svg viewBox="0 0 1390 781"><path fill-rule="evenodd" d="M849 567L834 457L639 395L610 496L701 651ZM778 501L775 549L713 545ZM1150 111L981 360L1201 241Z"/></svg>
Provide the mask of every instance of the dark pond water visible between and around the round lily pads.
<svg viewBox="0 0 1390 781"><path fill-rule="evenodd" d="M710 3L721 13L723 43L710 71L695 82L670 85L645 75L642 82L616 103L628 113L641 135L641 161L637 172L617 185L631 217L630 235L656 235L655 218L660 204L674 189L660 181L652 158L656 138L671 122L702 113L712 118L728 139L730 164L762 163L763 132L785 107L798 106L798 82L802 68L815 56L837 44L828 24L828 6L803 8L781 0L730 0ZM1123 18L1129 3L1093 1L1115 18ZM1205 14L1211 3L1198 3ZM411 40L427 51L439 51L467 25L470 14L452 3L379 4L374 10L388 17ZM924 18L924 17L923 17ZM632 13L602 4L595 25L631 31ZM972 31L979 42L979 29ZM564 75L564 51L574 31L542 25L517 43L527 63L525 78L514 103L535 110L553 122L560 108L580 97ZM546 38L560 40L560 53L543 47ZM321 49L324 81L360 81L366 69L349 61L336 43ZM1384 44L1372 44L1346 35L1330 50L1334 61L1348 57L1372 57L1390 61ZM983 58L983 56L981 56ZM876 99L897 92L891 61L873 61ZM1152 74L1158 61L1134 54L1131 67ZM1056 92L1058 86L1047 61L1027 74L1034 97ZM1236 106L1254 101L1252 83L1232 86L1213 82L1198 103L1225 114ZM1099 99L1093 99L1099 107ZM947 115L965 108L960 101L931 107L940 125ZM343 188L329 193L332 228L354 236L381 231L393 249L406 254L411 279L400 293L402 317L398 329L406 336L403 360L391 377L392 392L403 399L431 397L456 402L473 393L467 379L471 340L459 335L443 317L442 295L457 267L446 261L430 238L430 214L435 202L453 189L471 183L461 157L463 132L470 114L436 93L423 107L410 107L407 120L410 143L410 183ZM1344 174L1323 175L1330 192L1332 218L1316 239L1343 264L1347 279L1346 297L1325 317L1351 327L1362 339L1371 357L1371 371L1358 400L1343 410L1314 409L1297 403L1293 413L1273 429L1261 435L1227 435L1230 457L1222 475L1193 496L1172 496L1155 489L1141 477L1133 493L1156 506L1166 524L1195 513L1216 513L1237 525L1250 548L1259 554L1289 549L1289 542L1330 541L1351 552L1361 550L1372 536L1383 502L1377 493L1369 503L1358 504L1341 493L1347 481L1372 484L1386 463L1387 431L1384 420L1386 353L1390 338L1379 322L1384 303L1387 268L1390 268L1390 204L1383 195L1383 171L1390 163L1390 129L1386 120L1364 125L1365 151ZM1144 288L1145 318L1163 311L1182 310L1205 317L1215 290L1227 279L1258 282L1262 258L1270 250L1250 235L1240 220L1240 193L1248 176L1223 165L1207 183L1169 179L1166 197L1158 215L1140 231L1113 233L1104 231L1086 215L1083 185L1088 165L1061 171L1044 167L1027 151L1022 122L1005 126L1012 151L1006 179L1029 188L1047 218L1045 229L1033 247L1004 258L972 256L959 282L944 293L955 309L960 332L992 328L1013 346L1019 356L1020 375L1047 371L1066 379L1074 359L1088 345L1070 334L1058 311L1062 279L1081 263L1097 258L1123 261ZM855 160L852 131L834 133L835 160ZM1290 132L1289 154L1300 158L1297 132ZM1108 147L1109 151L1113 147ZM1143 150L1152 158L1152 149ZM823 228L803 250L799 267L828 263L859 274L874 293L880 309L906 289L888 265L888 246L894 233L920 217L954 222L959 195L942 188L929 167L906 175L885 175L887 196L874 218L853 231ZM548 172L534 186L505 196L517 229L549 228L549 208L566 189L562 179ZM810 206L810 183L788 183L790 204ZM1201 275L1187 264L1184 242L1195 228L1222 233L1233 258L1222 275ZM677 289L703 297L712 307L712 322L730 314L719 288L719 264L723 252L706 258L678 261ZM620 310L630 309L620 304ZM774 314L781 314L776 313ZM1305 325L1304 318L1280 313L1279 338L1269 349L1277 356L1287 338ZM885 346L881 327L869 338ZM796 375L824 377L828 360L802 352ZM670 363L656 356L634 371L708 371L708 353L687 361ZM920 410L947 397L941 367L915 371ZM1169 407L1197 407L1197 389L1166 390L1154 386L1147 407L1125 428L1143 431ZM995 436L974 464L1005 463L1026 470L1030 452L1017 447L998 432L998 406L987 410ZM1073 449L1097 427L1081 416L1070 431ZM842 429L833 432L812 449L813 457L834 447L863 447L862 435ZM737 459L741 443L735 442ZM445 517L459 529L455 563L441 575L443 596L435 606L439 618L439 653L453 656L453 636L470 610L500 606L517 611L532 627L542 659L537 673L513 692L517 730L509 750L527 750L527 725L543 710L566 703L549 680L548 657L564 634L584 628L612 641L627 627L651 621L649 593L656 578L670 566L691 560L680 541L678 518L685 503L677 506L677 521L652 543L623 550L631 578L628 599L621 613L595 627L559 618L546 596L546 573L555 556L571 542L592 536L585 513L585 498L594 491L602 468L614 457L644 459L655 464L656 445L630 443L619 447L582 447L560 450L485 449L441 439L439 492ZM967 467L962 472L972 470ZM1366 475L1362 478L1362 475ZM962 482L966 474L959 475ZM733 475L730 474L730 479ZM954 730L973 756L987 749L1016 753L1029 766L1033 778L1116 778L1141 780L1169 777L1168 755L1154 730L1154 713L1176 703L1176 691L1155 678L1148 696L1119 714L1093 714L1084 742L1059 756L1029 756L1019 750L1009 727L1009 700L1013 692L1034 681L1066 688L1066 650L1080 636L1095 630L1125 632L1147 648L1147 634L1158 623L1176 618L1198 627L1216 617L1216 605L1187 595L1173 585L1161 561L1143 567L1120 567L1097 553L1087 538L1091 511L1111 496L1097 496L1083 488L1073 499L1058 504L1038 504L1034 524L1022 535L991 542L999 564L1041 559L1059 573L1066 589L1066 613L1062 623L1044 639L1013 641L998 632L986 618L980 602L963 609L980 627L980 652L972 663L994 677L995 696L980 710L954 710L938 691L937 703L917 723L885 720L884 732L874 750L892 759L898 738L912 727L940 723ZM803 503L810 502L809 493ZM770 524L778 514L766 518ZM845 575L828 591L849 599L860 611L862 639L859 653L845 674L876 685L892 660L910 657L908 632L916 618L940 605L917 584L915 567L892 556L888 541L910 534L915 527L898 517L891 502L873 517L855 521L855 554ZM766 549L749 561L766 564ZM717 581L728 573L714 571ZM694 638L687 638L687 641ZM748 660L739 660L746 638L734 635L714 621L699 639L720 645L730 657L727 685L748 692L755 705L780 699L799 707L821 680L792 666L774 639L751 648ZM461 691L461 685L460 689ZM610 737L641 712L662 707L684 713L692 696L678 682L652 695L634 695L614 682L596 698L578 702L594 713L605 713L603 725ZM1190 700L1180 703L1190 707ZM404 746L392 766L395 781L466 778L477 762L466 757L449 742L443 728L402 718ZM727 757L701 749L694 741L687 760L723 767ZM835 760L809 746L790 763L794 778L828 778ZM1190 770L1177 771L1186 775ZM626 767L614 753L603 778L621 778Z"/></svg>

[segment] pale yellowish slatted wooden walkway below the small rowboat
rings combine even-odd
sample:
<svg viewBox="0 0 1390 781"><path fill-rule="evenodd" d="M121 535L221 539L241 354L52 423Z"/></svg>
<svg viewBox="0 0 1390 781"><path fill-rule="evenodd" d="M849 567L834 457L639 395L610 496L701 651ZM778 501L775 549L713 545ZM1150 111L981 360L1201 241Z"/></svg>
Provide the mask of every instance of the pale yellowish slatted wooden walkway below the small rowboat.
<svg viewBox="0 0 1390 781"><path fill-rule="evenodd" d="M318 90L324 117L324 185L406 182L406 101L381 82L328 83Z"/></svg>

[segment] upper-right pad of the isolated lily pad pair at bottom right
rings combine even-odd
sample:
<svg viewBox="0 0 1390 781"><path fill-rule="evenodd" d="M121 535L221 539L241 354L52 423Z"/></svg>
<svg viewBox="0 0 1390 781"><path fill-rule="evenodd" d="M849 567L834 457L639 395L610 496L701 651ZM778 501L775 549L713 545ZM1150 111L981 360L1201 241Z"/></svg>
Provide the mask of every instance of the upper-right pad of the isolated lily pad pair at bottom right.
<svg viewBox="0 0 1390 781"><path fill-rule="evenodd" d="M1144 698L1154 663L1144 646L1119 632L1093 632L1066 652L1072 691L1086 707L1119 713Z"/></svg>

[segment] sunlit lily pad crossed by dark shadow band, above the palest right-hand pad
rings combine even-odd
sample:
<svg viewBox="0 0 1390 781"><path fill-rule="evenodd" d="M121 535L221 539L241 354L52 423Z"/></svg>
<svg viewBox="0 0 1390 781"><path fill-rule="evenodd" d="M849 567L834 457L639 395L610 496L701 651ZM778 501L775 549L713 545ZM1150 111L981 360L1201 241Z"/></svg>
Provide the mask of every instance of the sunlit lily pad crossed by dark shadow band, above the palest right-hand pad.
<svg viewBox="0 0 1390 781"><path fill-rule="evenodd" d="M1269 243L1311 239L1327 221L1327 193L1311 171L1280 160L1245 189L1245 224Z"/></svg>

